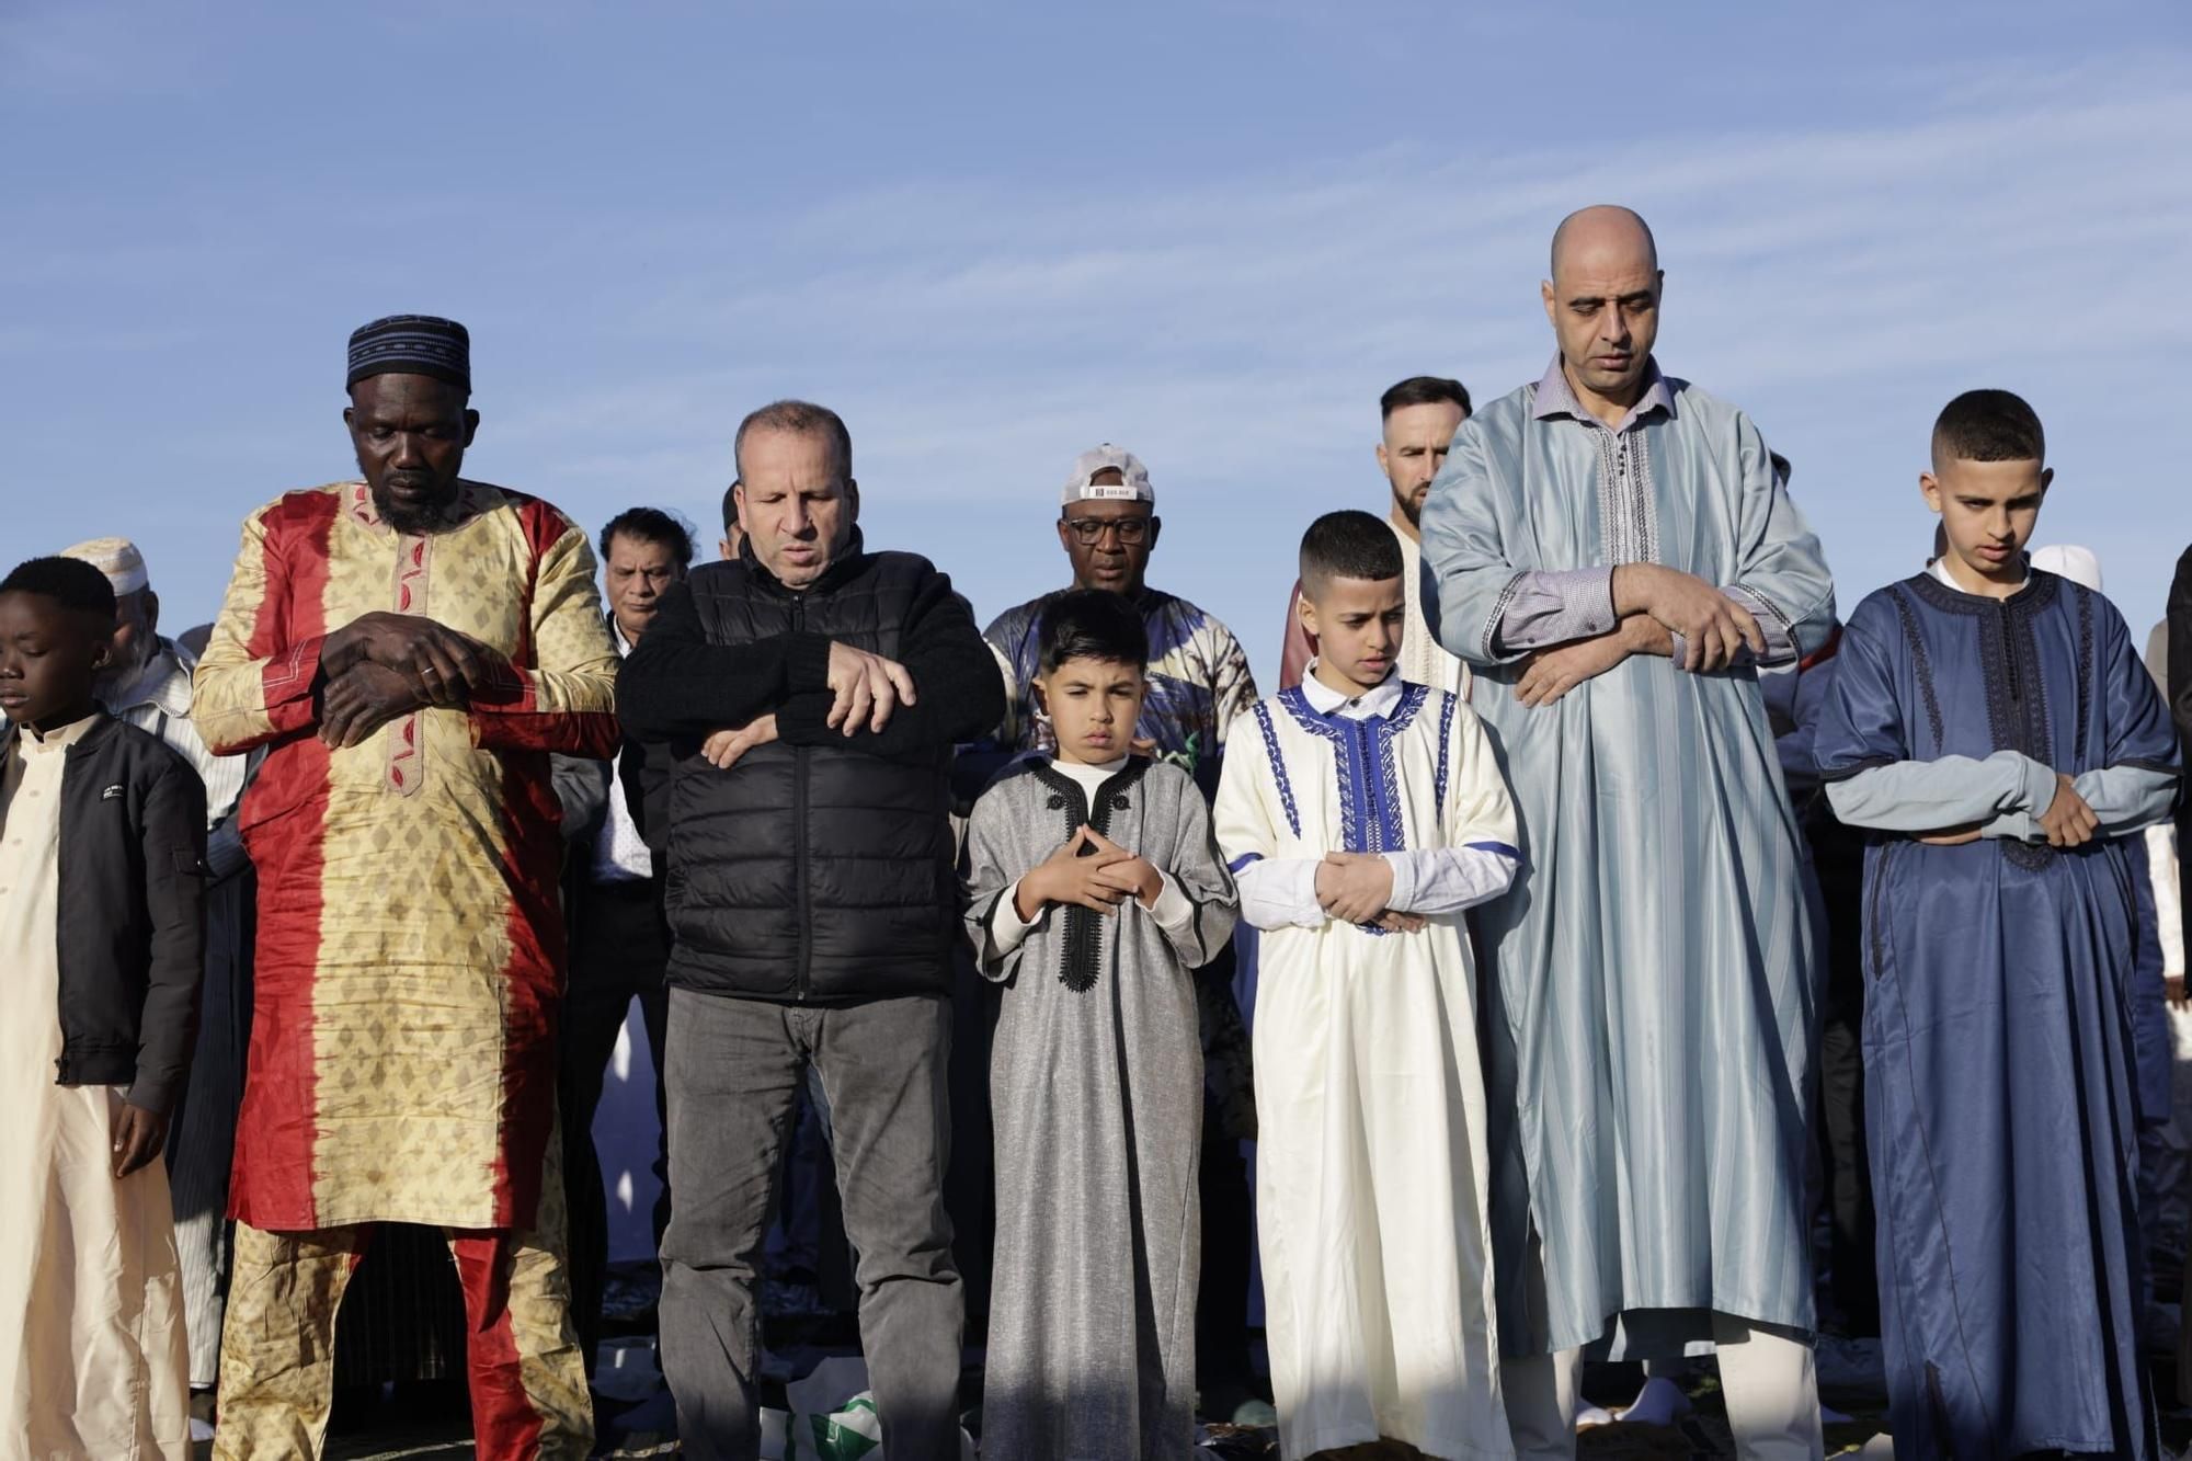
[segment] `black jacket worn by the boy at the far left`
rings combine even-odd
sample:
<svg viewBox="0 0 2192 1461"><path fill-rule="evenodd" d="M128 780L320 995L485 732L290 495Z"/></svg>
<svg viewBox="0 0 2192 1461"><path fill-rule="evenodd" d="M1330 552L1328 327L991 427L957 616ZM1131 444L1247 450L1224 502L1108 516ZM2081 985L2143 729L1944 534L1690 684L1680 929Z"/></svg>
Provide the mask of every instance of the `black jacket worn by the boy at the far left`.
<svg viewBox="0 0 2192 1461"><path fill-rule="evenodd" d="M96 722L61 761L57 1084L129 1086L132 1106L167 1114L206 970L206 788L160 737Z"/></svg>

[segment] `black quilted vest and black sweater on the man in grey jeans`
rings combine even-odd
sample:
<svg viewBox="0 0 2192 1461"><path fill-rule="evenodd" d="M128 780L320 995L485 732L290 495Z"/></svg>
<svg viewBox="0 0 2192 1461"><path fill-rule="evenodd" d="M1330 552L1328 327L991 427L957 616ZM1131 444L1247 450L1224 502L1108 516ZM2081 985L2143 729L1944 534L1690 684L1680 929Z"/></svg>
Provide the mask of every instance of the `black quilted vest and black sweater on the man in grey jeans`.
<svg viewBox="0 0 2192 1461"><path fill-rule="evenodd" d="M831 730L833 641L905 665L914 704L881 730ZM951 750L1004 715L1004 676L951 579L855 533L794 592L745 548L664 594L616 704L633 741L669 748L649 838L660 807L673 985L824 1005L949 989ZM730 770L697 755L769 713L780 739Z"/></svg>

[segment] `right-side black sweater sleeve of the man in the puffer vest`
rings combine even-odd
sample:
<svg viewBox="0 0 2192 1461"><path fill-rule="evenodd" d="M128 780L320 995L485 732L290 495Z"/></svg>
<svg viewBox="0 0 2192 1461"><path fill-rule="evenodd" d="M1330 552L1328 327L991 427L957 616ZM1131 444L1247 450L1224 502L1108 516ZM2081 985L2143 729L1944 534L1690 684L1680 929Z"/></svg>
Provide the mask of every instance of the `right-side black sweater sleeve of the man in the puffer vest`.
<svg viewBox="0 0 2192 1461"><path fill-rule="evenodd" d="M892 711L881 730L831 730L831 693L794 680L776 711L776 735L787 746L844 746L886 761L934 761L951 746L997 728L1004 717L1004 673L973 608L951 592L951 579L932 573L907 614L903 665L914 678L914 702Z"/></svg>

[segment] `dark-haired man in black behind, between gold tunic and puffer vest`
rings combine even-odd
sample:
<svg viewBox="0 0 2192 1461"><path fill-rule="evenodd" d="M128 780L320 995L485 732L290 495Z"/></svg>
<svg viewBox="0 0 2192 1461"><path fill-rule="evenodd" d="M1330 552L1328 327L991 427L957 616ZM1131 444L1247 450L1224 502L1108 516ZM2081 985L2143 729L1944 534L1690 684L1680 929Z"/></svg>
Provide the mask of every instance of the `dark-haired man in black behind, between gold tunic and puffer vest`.
<svg viewBox="0 0 2192 1461"><path fill-rule="evenodd" d="M660 507L627 507L601 529L601 577L609 599L609 636L629 656L682 584L693 562L693 535ZM557 1046L557 1114L563 1125L563 1191L570 1198L570 1310L587 1373L601 1345L601 1294L609 1264L609 1209L594 1112L603 1073L640 1003L655 1068L655 1110L664 1110L662 1044L669 992L662 970L671 930L662 917L662 869L640 834L640 785L647 746L627 739L614 761L557 757L555 788L563 803L570 869L563 915L570 928L570 981L563 987ZM658 1149L655 1171L664 1160ZM655 1202L655 1239L669 1213L669 1187Z"/></svg>

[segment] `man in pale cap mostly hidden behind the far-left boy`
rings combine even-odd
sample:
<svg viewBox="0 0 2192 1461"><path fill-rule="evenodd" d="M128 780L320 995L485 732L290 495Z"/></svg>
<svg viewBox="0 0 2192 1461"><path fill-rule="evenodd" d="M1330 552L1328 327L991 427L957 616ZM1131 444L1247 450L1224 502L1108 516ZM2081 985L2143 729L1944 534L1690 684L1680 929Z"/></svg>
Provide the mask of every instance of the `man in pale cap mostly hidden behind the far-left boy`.
<svg viewBox="0 0 2192 1461"><path fill-rule="evenodd" d="M182 1255L184 1321L191 1332L193 1408L210 1406L221 1360L221 1314L228 1292L228 1158L237 1101L243 1092L248 1042L252 897L250 862L237 836L237 799L248 757L206 750L191 722L191 669L197 656L160 636L160 597L145 555L127 537L94 537L68 548L114 586L114 658L99 678L99 700L116 720L149 730L197 768L206 783L206 985L199 996L197 1053L169 1139L169 1187L175 1200L175 1246ZM210 1419L208 1413L197 1415Z"/></svg>

